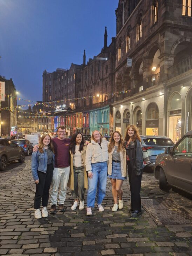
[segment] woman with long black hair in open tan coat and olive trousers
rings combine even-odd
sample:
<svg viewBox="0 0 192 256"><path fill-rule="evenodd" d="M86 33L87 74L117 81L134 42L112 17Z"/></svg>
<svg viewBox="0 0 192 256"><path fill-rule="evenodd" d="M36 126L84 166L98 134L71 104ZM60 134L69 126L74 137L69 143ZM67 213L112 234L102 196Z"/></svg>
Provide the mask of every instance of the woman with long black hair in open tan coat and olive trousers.
<svg viewBox="0 0 192 256"><path fill-rule="evenodd" d="M80 132L73 134L70 150L70 174L68 187L72 190L71 194L74 198L74 204L71 206L71 210L75 210L80 199L79 209L84 209L84 194L85 189L88 188L88 177L85 169L85 152L87 144L84 143L83 135Z"/></svg>

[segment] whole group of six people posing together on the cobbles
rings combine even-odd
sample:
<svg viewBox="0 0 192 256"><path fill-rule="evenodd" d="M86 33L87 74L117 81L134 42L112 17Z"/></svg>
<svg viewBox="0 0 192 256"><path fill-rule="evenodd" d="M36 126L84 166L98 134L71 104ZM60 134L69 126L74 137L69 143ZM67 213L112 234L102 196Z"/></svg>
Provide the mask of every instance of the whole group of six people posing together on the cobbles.
<svg viewBox="0 0 192 256"><path fill-rule="evenodd" d="M92 133L90 143L84 141L80 132L73 134L70 140L65 137L66 128L63 126L57 128L57 135L58 137L51 139L48 134L44 134L32 154L32 175L36 185L35 218L48 216L51 184L50 214L56 213L58 192L59 211L65 211L67 186L74 199L71 210L77 207L84 209L85 189L88 189L87 215L92 214L91 208L94 208L95 200L97 209L104 211L102 201L106 193L107 176L112 184L112 211L122 209L122 184L127 174L131 192L131 217L142 214L140 188L144 163L141 140L135 125L127 127L125 140L121 133L115 131L108 142L98 130Z"/></svg>

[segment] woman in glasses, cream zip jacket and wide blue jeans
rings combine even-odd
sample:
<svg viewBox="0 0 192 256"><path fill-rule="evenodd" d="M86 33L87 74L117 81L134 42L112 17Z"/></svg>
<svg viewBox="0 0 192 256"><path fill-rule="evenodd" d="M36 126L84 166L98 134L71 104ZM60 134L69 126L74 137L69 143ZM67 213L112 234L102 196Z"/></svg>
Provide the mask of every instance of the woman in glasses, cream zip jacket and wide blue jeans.
<svg viewBox="0 0 192 256"><path fill-rule="evenodd" d="M87 215L91 215L91 208L95 206L97 192L97 209L104 211L101 205L107 186L107 161L109 159L108 141L95 130L91 136L91 142L87 145L85 155L85 167L88 171Z"/></svg>

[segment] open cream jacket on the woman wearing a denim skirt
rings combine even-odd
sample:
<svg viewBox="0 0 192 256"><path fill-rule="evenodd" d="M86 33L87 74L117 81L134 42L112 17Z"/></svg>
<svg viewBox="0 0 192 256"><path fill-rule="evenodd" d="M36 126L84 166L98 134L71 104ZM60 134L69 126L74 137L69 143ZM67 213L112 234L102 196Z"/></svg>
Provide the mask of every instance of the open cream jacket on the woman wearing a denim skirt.
<svg viewBox="0 0 192 256"><path fill-rule="evenodd" d="M109 175L112 174L112 160L113 160L113 152L115 147L112 148L112 151L109 153L109 164L108 164L108 171ZM121 176L126 177L127 175L127 163L126 163L126 150L123 149L123 152L120 151L120 159L121 159Z"/></svg>

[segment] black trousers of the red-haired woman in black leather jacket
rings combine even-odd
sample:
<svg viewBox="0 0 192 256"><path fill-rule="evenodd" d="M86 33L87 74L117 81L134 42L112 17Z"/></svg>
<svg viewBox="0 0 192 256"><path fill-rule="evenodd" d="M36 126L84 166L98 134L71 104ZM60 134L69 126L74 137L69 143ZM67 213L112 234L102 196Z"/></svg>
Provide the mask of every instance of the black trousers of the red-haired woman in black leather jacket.
<svg viewBox="0 0 192 256"><path fill-rule="evenodd" d="M135 171L131 168L130 161L127 161L128 175L129 175L129 186L131 191L131 210L141 211L141 200L140 200L140 188L141 188L141 175L135 175Z"/></svg>

